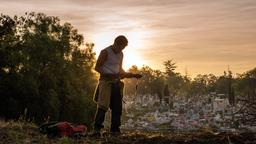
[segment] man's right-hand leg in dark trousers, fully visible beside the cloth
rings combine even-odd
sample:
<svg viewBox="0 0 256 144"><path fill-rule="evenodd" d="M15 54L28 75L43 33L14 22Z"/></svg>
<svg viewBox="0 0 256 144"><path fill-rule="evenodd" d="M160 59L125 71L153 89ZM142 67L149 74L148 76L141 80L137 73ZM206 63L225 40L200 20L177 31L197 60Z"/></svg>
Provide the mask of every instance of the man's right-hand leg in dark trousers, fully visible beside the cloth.
<svg viewBox="0 0 256 144"><path fill-rule="evenodd" d="M111 132L120 132L121 115L122 115L122 95L120 93L120 85L118 83L112 84L111 88Z"/></svg>

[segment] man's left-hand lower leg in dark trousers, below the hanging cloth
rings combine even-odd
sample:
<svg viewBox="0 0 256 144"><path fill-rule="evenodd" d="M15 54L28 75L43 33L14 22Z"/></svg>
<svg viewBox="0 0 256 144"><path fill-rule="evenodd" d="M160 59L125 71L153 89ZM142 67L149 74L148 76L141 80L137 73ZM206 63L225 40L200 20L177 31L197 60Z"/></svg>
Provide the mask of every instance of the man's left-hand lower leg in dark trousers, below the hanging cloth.
<svg viewBox="0 0 256 144"><path fill-rule="evenodd" d="M95 132L100 132L100 130L102 128L104 128L103 126L103 122L105 120L105 114L106 111L101 109L101 108L97 108L97 112L95 114L95 118L94 118L94 131Z"/></svg>

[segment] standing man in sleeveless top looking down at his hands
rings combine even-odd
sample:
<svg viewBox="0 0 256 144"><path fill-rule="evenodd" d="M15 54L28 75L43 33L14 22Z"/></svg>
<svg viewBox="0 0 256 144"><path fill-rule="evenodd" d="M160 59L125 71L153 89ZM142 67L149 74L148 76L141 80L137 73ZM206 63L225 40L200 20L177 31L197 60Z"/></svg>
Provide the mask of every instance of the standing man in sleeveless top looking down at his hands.
<svg viewBox="0 0 256 144"><path fill-rule="evenodd" d="M107 110L111 109L111 133L120 133L122 115L122 97L124 84L122 78L141 78L140 74L126 73L122 68L123 52L128 45L125 36L115 38L114 44L103 49L96 62L95 70L100 73L99 84L94 101L97 111L94 118L94 135L100 136L100 130Z"/></svg>

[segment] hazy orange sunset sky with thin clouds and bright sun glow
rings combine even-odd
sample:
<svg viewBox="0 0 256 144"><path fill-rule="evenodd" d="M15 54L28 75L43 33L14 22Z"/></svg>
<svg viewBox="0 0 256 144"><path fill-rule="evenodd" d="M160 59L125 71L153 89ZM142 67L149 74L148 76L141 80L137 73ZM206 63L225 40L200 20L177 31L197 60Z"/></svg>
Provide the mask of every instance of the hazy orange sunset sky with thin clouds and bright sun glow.
<svg viewBox="0 0 256 144"><path fill-rule="evenodd" d="M93 41L97 54L124 34L125 67L162 69L173 59L192 77L256 67L255 0L0 0L0 9L58 16Z"/></svg>

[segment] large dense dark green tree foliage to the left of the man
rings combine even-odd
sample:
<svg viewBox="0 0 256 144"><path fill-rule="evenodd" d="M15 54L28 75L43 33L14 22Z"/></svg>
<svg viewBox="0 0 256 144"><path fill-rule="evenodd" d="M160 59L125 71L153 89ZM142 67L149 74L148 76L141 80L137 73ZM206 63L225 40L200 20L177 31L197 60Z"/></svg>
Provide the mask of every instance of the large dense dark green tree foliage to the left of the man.
<svg viewBox="0 0 256 144"><path fill-rule="evenodd" d="M85 48L81 48L84 46ZM90 122L93 44L70 23L42 13L0 17L0 115L36 122Z"/></svg>

